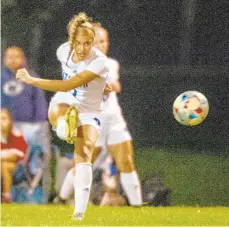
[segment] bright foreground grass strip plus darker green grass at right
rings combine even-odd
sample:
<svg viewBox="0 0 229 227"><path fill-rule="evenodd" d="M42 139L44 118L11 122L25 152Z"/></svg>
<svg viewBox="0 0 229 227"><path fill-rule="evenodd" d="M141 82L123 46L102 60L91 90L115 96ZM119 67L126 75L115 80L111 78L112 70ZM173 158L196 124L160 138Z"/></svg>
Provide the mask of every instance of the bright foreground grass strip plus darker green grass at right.
<svg viewBox="0 0 229 227"><path fill-rule="evenodd" d="M1 225L229 226L228 155L139 149L135 159L141 179L160 173L163 183L172 190L172 207L90 205L85 219L77 222L71 220L70 206L2 205Z"/></svg>

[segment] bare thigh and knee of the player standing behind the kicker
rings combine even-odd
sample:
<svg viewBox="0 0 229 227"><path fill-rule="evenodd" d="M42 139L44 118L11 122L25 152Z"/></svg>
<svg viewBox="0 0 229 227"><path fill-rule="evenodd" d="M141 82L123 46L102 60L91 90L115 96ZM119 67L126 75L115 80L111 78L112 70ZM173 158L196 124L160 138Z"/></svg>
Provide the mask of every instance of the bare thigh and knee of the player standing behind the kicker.
<svg viewBox="0 0 229 227"><path fill-rule="evenodd" d="M132 140L108 145L108 151L114 157L115 163L120 172L129 173L134 170Z"/></svg>

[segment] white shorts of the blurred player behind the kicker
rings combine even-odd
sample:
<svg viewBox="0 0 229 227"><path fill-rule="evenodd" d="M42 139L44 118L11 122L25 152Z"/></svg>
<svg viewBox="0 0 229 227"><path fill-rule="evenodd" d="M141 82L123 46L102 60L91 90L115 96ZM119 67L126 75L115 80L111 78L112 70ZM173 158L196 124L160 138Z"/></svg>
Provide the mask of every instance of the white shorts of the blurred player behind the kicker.
<svg viewBox="0 0 229 227"><path fill-rule="evenodd" d="M114 145L132 140L127 124L121 115L102 118L102 129L96 147Z"/></svg>

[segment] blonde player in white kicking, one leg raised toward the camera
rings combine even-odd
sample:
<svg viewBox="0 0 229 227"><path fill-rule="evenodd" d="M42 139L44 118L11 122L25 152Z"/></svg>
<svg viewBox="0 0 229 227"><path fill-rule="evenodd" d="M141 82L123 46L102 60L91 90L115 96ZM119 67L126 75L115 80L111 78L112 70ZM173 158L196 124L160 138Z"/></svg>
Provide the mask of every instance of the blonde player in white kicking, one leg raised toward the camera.
<svg viewBox="0 0 229 227"><path fill-rule="evenodd" d="M79 13L70 20L68 35L68 42L57 50L63 80L34 78L26 69L18 70L16 76L27 84L57 92L49 105L49 121L59 138L75 144L73 218L82 220L91 188L91 156L99 137L108 70L107 57L93 47L95 31L85 13ZM106 91L109 89L107 86Z"/></svg>

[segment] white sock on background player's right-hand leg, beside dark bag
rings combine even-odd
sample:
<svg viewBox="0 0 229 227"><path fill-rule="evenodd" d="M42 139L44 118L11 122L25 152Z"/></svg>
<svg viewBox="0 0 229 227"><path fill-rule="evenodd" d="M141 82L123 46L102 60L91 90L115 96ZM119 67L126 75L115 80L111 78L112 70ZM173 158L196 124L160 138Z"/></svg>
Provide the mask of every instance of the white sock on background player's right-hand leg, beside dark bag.
<svg viewBox="0 0 229 227"><path fill-rule="evenodd" d="M141 185L136 171L131 173L120 173L120 181L130 205L142 205Z"/></svg>

